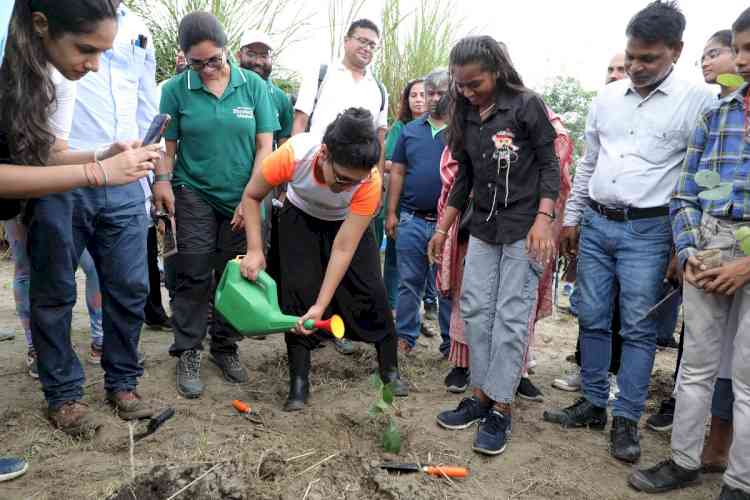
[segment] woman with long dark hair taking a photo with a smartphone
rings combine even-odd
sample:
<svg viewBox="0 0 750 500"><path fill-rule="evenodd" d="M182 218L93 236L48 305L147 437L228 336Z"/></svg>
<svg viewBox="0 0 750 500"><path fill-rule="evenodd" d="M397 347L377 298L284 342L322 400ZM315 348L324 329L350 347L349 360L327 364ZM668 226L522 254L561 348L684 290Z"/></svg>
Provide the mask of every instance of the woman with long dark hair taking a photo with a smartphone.
<svg viewBox="0 0 750 500"><path fill-rule="evenodd" d="M53 14L54 13L54 14ZM18 214L14 200L77 187L133 182L153 169L156 147L114 144L104 151L67 151L75 102L74 80L96 70L112 46L117 24L113 0L16 2L0 68L0 212ZM18 117L23 119L19 120ZM37 168L37 167L44 168ZM45 370L43 363L40 370ZM50 404L56 427L73 435L98 427L88 407L72 395ZM25 461L0 457L0 481L25 472Z"/></svg>

